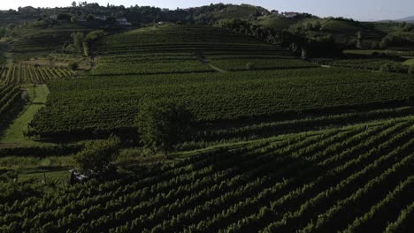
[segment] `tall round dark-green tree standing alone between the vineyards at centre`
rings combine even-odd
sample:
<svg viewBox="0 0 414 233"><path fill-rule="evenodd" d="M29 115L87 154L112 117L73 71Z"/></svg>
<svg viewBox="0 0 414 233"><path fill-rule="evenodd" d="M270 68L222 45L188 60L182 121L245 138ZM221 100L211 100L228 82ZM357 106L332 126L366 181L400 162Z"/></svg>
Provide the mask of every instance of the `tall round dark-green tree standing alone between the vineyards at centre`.
<svg viewBox="0 0 414 233"><path fill-rule="evenodd" d="M188 137L192 123L193 115L173 102L142 104L135 119L142 145L154 153L163 152L165 157Z"/></svg>

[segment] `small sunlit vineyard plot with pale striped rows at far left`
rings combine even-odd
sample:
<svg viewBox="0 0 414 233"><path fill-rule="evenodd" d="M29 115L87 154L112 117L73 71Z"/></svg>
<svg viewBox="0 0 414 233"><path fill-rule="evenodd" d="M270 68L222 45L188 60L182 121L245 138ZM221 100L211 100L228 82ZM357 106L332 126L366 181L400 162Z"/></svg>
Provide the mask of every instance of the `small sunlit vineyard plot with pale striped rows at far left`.
<svg viewBox="0 0 414 233"><path fill-rule="evenodd" d="M70 78L73 71L64 68L35 66L27 64L4 65L0 67L0 83L40 84L52 79Z"/></svg>

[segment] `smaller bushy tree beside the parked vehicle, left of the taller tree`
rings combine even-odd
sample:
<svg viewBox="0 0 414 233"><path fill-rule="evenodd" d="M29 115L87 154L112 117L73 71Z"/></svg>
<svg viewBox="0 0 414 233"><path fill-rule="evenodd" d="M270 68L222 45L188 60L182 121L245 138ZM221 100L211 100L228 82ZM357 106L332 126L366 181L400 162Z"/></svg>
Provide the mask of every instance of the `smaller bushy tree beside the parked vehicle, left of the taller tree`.
<svg viewBox="0 0 414 233"><path fill-rule="evenodd" d="M85 174L99 174L109 169L119 154L120 140L111 136L106 140L88 142L73 156L77 169Z"/></svg>

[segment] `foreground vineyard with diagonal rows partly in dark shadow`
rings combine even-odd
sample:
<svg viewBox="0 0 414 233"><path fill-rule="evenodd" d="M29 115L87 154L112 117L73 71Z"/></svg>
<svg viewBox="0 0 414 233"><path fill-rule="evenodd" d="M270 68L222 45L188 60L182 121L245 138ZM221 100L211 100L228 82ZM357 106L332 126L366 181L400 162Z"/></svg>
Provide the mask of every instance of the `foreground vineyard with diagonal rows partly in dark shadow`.
<svg viewBox="0 0 414 233"><path fill-rule="evenodd" d="M413 162L412 116L281 135L43 194L0 183L0 230L409 232Z"/></svg>

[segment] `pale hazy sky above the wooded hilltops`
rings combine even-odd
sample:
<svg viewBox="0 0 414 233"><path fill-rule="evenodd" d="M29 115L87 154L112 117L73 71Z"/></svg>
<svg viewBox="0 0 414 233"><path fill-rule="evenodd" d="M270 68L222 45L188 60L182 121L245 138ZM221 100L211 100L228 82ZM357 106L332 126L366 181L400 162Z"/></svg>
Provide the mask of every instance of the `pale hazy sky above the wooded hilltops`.
<svg viewBox="0 0 414 233"><path fill-rule="evenodd" d="M19 6L68 6L71 0L0 0L0 9L17 9ZM78 1L76 1L78 2ZM269 10L309 12L321 17L343 16L359 20L401 19L414 15L414 0L96 0L88 3L150 5L175 9L211 3L254 4Z"/></svg>

